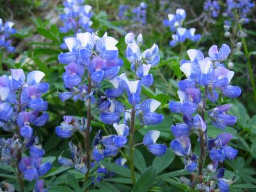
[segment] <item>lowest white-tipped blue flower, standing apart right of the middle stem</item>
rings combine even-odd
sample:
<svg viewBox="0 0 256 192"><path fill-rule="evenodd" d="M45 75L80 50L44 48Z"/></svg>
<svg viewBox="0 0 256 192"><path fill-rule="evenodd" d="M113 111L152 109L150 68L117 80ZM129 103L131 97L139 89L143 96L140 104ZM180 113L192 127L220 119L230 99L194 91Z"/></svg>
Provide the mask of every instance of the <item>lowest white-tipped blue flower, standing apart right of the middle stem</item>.
<svg viewBox="0 0 256 192"><path fill-rule="evenodd" d="M151 152L155 156L163 156L167 149L166 145L156 143L159 136L160 131L154 130L148 131L143 138L143 144L147 146L149 152Z"/></svg>

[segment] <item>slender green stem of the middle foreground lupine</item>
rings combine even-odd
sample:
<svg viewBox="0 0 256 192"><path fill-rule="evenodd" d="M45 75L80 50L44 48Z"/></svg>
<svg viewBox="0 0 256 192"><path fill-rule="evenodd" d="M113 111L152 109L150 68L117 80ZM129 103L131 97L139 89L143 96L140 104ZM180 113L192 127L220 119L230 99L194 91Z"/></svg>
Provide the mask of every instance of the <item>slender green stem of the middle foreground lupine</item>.
<svg viewBox="0 0 256 192"><path fill-rule="evenodd" d="M133 164L133 152L134 152L134 122L135 122L135 106L132 105L132 112L131 112L131 126L130 126L130 169L131 169L131 177L132 177L132 185L135 184L135 171L134 171L134 164Z"/></svg>

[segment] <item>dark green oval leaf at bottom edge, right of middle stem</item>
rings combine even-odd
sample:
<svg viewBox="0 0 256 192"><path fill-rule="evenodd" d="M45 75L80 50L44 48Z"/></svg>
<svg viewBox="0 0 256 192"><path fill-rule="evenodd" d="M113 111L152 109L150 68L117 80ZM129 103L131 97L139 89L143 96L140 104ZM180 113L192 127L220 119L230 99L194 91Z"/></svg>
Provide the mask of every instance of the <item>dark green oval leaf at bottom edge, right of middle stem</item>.
<svg viewBox="0 0 256 192"><path fill-rule="evenodd" d="M147 170L140 176L140 178L137 180L136 184L132 188L132 192L143 192L147 191L153 183L156 178L156 169L154 166L149 166Z"/></svg>

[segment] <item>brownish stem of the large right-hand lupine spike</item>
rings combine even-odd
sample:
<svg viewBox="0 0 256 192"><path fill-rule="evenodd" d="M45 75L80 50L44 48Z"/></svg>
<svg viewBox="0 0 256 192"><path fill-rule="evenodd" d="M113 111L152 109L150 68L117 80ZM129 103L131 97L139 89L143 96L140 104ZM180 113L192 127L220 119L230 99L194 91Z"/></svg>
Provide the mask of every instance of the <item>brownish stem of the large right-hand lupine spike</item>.
<svg viewBox="0 0 256 192"><path fill-rule="evenodd" d="M207 99L207 92L208 92L208 86L205 86L204 90L204 102L203 102L203 108L202 108L202 119L205 120L205 103ZM204 132L200 132L200 160L199 160L199 175L203 175L203 168L204 168L204 158L205 158L205 141L204 141ZM203 177L200 177L200 182L203 182Z"/></svg>

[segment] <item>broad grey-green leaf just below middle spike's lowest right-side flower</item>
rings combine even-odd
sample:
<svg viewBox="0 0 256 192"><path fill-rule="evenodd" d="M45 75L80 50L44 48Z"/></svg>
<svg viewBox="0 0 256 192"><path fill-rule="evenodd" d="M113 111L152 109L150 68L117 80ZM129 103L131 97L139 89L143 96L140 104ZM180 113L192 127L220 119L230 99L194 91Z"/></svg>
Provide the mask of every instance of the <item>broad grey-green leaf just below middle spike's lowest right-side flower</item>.
<svg viewBox="0 0 256 192"><path fill-rule="evenodd" d="M155 157L153 161L153 166L156 168L157 173L163 171L166 167L168 167L173 159L175 154L172 152L171 148L167 148L165 154L160 157Z"/></svg>

